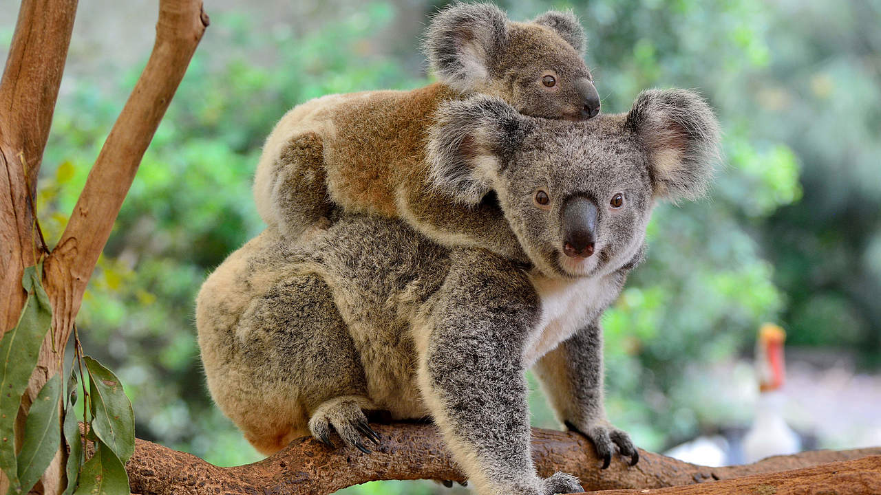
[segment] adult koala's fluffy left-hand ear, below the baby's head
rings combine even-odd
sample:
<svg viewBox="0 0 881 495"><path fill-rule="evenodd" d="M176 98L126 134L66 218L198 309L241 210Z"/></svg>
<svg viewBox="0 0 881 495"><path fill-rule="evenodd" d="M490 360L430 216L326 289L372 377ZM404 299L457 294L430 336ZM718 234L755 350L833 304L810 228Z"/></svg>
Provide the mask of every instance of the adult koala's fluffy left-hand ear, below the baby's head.
<svg viewBox="0 0 881 495"><path fill-rule="evenodd" d="M432 187L459 203L477 205L534 125L495 97L448 101L428 133Z"/></svg>

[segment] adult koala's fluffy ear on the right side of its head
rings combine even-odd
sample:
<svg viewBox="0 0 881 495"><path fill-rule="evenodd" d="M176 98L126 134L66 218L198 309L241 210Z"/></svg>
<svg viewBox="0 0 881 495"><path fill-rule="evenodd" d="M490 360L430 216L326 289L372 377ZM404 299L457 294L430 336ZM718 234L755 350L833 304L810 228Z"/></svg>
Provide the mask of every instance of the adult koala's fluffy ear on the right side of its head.
<svg viewBox="0 0 881 495"><path fill-rule="evenodd" d="M719 159L719 122L695 92L648 90L627 114L626 129L648 151L655 196L697 199Z"/></svg>

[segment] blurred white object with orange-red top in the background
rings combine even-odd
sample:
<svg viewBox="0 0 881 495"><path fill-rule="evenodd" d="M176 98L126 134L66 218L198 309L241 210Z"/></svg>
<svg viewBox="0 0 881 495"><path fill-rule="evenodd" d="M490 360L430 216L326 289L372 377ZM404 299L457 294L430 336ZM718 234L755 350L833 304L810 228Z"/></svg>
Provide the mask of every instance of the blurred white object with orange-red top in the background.
<svg viewBox="0 0 881 495"><path fill-rule="evenodd" d="M783 419L785 396L783 343L786 332L766 323L759 330L756 343L756 366L759 375L759 400L756 417L744 437L744 461L756 462L769 455L796 454L802 442Z"/></svg>

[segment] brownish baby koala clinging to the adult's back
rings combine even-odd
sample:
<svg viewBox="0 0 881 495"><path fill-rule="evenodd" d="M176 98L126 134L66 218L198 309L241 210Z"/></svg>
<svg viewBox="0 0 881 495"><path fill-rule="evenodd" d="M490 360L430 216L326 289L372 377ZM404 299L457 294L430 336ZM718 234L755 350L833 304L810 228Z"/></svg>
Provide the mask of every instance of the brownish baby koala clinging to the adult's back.
<svg viewBox="0 0 881 495"><path fill-rule="evenodd" d="M334 206L403 218L430 239L525 261L497 203L430 188L427 131L446 100L497 96L524 114L583 120L600 109L569 12L511 22L491 4L453 4L426 33L440 83L412 91L334 94L288 112L267 138L254 194L263 220L289 240L323 228Z"/></svg>

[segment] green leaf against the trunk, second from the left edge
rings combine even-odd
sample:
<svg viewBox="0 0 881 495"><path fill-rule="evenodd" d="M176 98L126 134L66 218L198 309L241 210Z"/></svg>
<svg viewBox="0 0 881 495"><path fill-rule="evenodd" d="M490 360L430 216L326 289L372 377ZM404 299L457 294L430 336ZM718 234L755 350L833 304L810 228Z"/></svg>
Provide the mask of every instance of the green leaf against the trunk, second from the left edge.
<svg viewBox="0 0 881 495"><path fill-rule="evenodd" d="M25 423L25 441L19 452L19 483L29 491L48 468L61 442L58 401L61 400L61 375L50 378L31 404Z"/></svg>

